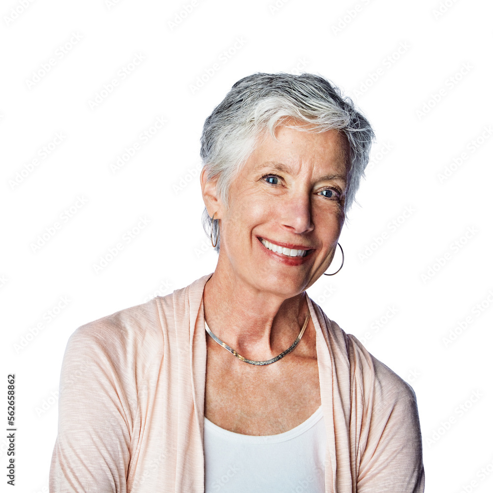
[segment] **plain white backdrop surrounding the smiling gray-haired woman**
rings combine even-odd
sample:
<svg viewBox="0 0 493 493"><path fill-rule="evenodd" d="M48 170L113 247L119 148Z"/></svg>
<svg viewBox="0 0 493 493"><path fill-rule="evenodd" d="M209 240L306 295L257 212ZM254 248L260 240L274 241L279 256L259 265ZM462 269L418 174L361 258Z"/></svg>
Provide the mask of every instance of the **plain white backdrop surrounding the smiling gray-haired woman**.
<svg viewBox="0 0 493 493"><path fill-rule="evenodd" d="M5 391L16 376L17 491L48 491L70 334L214 270L199 138L255 71L319 73L373 124L344 267L308 292L414 387L426 491L492 491L491 2L23 1L0 11L0 375Z"/></svg>

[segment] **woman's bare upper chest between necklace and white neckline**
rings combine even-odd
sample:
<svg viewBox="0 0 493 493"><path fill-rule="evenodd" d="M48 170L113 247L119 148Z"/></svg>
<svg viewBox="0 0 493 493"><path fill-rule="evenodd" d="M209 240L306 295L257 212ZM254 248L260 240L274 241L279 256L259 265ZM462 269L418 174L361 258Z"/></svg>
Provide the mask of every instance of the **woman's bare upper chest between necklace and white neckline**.
<svg viewBox="0 0 493 493"><path fill-rule="evenodd" d="M217 347L208 343L204 415L215 425L274 435L303 423L321 405L317 359L289 354L272 366L255 366L211 342Z"/></svg>

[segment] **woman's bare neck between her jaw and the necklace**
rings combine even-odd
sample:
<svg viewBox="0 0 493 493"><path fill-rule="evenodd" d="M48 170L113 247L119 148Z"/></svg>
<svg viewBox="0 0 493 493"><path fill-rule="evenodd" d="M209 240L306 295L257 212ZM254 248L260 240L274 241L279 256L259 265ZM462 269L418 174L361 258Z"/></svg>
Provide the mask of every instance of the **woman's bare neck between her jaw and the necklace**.
<svg viewBox="0 0 493 493"><path fill-rule="evenodd" d="M248 359L268 360L291 346L307 311L304 291L285 298L223 275L217 268L204 287L209 328Z"/></svg>

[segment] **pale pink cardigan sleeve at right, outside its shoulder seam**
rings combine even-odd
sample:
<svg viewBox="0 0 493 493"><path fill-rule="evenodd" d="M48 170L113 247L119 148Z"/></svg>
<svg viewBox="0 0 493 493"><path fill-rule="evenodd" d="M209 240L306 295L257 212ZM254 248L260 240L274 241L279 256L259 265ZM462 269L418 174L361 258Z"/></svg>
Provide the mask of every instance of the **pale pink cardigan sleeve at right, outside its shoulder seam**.
<svg viewBox="0 0 493 493"><path fill-rule="evenodd" d="M352 399L360 425L358 486L361 491L377 491L376 485L382 492L423 491L423 445L413 388L356 337L347 334L346 338L358 388L352 395L359 397ZM387 471L383 473L386 482L391 478L385 483L387 489L380 471Z"/></svg>

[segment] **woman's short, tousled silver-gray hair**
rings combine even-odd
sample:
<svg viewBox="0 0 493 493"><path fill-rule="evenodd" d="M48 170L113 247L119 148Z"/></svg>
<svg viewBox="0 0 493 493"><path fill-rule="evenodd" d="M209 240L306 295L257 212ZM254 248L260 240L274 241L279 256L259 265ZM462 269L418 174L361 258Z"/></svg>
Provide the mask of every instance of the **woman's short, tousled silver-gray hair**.
<svg viewBox="0 0 493 493"><path fill-rule="evenodd" d="M287 124L288 119L305 122ZM261 136L267 132L276 139L279 125L305 132L325 132L336 129L349 141L351 167L345 212L355 201L361 177L370 157L375 138L368 120L359 112L351 98L328 80L312 73L257 72L240 79L224 100L214 108L204 123L200 156L208 169L208 181L217 179L217 191L227 208L229 189L240 173ZM357 204L357 202L356 202ZM219 221L202 213L204 231L217 237L219 252Z"/></svg>

